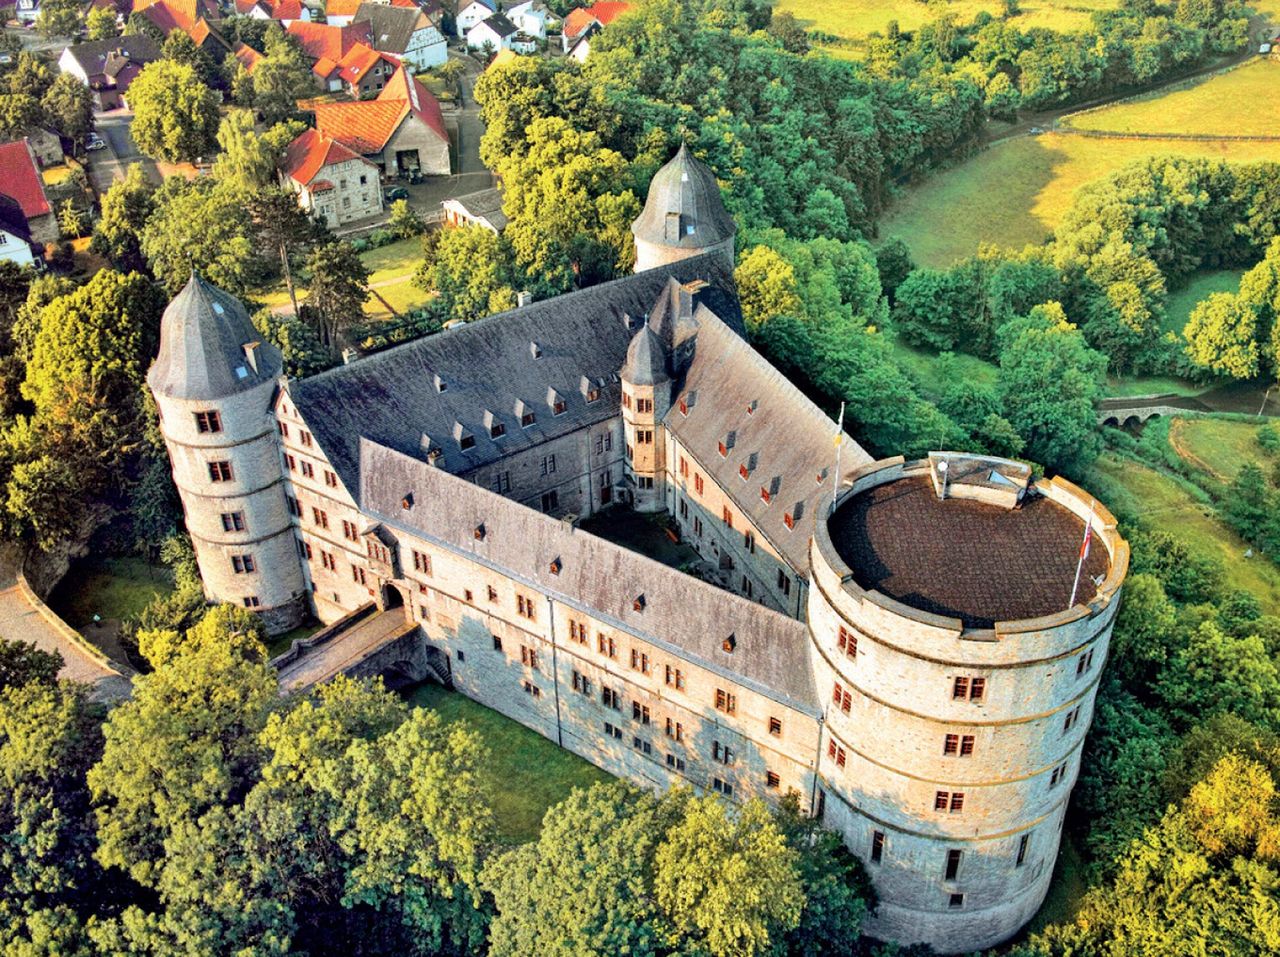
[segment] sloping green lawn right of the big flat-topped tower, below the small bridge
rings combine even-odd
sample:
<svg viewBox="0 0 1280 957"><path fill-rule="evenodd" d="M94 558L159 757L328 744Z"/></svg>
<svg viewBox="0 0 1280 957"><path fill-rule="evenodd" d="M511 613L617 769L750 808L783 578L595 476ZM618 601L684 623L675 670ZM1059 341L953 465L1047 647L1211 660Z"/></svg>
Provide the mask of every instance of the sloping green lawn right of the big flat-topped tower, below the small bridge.
<svg viewBox="0 0 1280 957"><path fill-rule="evenodd" d="M1226 587L1251 592L1268 614L1280 614L1280 568L1268 559L1244 558L1248 545L1213 513L1212 505L1167 475L1116 455L1102 455L1092 470L1101 481L1087 476L1084 487L1117 487L1124 503L1117 510L1140 517L1152 528L1181 539L1196 551L1221 559ZM1107 504L1112 504L1108 502Z"/></svg>

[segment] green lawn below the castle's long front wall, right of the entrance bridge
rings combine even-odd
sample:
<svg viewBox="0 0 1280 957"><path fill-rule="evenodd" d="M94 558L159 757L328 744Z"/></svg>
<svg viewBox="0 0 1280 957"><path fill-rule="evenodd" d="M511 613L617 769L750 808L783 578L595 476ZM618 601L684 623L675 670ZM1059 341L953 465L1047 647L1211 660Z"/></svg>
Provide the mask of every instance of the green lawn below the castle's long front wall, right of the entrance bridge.
<svg viewBox="0 0 1280 957"><path fill-rule="evenodd" d="M456 691L420 684L408 701L436 711L447 722L466 722L484 738L489 760L481 769L481 780L493 798L498 837L506 843L536 839L547 809L568 797L573 788L613 780L538 732Z"/></svg>

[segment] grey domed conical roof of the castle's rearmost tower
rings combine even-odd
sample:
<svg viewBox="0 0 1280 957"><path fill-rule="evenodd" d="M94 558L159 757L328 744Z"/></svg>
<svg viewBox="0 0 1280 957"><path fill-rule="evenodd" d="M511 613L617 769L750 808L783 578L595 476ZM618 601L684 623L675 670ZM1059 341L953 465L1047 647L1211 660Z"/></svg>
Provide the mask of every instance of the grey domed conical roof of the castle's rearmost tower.
<svg viewBox="0 0 1280 957"><path fill-rule="evenodd" d="M684 143L654 175L644 212L631 224L636 239L681 248L714 246L735 229L716 177Z"/></svg>

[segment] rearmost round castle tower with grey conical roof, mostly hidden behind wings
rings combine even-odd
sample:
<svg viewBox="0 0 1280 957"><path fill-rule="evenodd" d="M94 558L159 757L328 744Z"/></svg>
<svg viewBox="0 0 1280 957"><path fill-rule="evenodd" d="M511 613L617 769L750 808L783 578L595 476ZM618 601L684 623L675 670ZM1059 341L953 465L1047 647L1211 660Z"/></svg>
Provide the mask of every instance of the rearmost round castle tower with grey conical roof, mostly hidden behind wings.
<svg viewBox="0 0 1280 957"><path fill-rule="evenodd" d="M714 174L682 143L671 162L654 175L644 211L631 224L635 271L704 252L721 253L732 271L735 232Z"/></svg>

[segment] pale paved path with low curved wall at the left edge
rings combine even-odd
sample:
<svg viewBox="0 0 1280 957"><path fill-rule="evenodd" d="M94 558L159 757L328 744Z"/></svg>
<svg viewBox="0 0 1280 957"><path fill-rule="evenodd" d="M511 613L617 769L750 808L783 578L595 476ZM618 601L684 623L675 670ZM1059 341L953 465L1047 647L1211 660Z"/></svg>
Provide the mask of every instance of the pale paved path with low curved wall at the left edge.
<svg viewBox="0 0 1280 957"><path fill-rule="evenodd" d="M12 562L0 559L0 637L27 641L63 656L59 678L91 684L95 701L129 696L133 670L109 659L79 632L54 614Z"/></svg>

